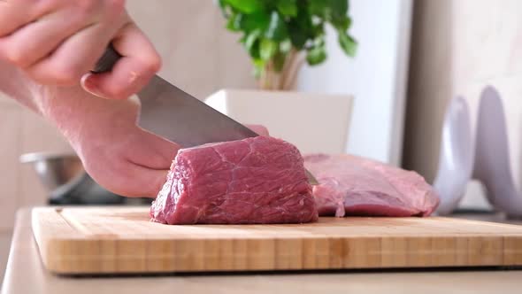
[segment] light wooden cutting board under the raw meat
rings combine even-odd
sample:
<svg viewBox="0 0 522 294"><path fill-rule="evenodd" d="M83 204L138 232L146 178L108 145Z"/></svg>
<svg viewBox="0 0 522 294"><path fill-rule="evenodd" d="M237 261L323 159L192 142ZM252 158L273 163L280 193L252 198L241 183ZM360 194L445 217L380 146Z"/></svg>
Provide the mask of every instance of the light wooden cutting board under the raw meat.
<svg viewBox="0 0 522 294"><path fill-rule="evenodd" d="M147 207L42 207L32 225L59 274L522 265L522 226L438 217L168 226Z"/></svg>

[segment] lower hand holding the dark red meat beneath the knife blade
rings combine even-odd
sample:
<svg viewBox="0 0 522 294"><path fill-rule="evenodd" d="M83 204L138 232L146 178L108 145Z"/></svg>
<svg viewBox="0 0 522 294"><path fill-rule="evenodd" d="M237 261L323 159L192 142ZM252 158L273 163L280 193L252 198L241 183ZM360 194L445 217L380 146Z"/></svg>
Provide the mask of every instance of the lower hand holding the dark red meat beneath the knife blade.
<svg viewBox="0 0 522 294"><path fill-rule="evenodd" d="M137 102L92 97L78 86L34 93L96 182L127 197L157 196L180 146L136 125Z"/></svg>

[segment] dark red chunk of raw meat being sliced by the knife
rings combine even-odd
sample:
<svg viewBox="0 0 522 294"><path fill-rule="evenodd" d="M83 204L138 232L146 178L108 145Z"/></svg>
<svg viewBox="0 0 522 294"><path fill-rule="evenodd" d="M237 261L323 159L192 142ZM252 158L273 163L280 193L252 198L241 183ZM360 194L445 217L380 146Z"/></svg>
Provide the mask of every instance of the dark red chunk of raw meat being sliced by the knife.
<svg viewBox="0 0 522 294"><path fill-rule="evenodd" d="M150 216L166 224L318 220L301 153L267 136L178 151Z"/></svg>

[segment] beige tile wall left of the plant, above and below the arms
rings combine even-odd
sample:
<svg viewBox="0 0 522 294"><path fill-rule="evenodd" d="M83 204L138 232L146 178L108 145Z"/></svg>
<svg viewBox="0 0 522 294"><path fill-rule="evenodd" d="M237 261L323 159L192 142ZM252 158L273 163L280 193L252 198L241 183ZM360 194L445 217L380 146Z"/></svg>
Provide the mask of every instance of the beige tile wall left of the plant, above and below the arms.
<svg viewBox="0 0 522 294"><path fill-rule="evenodd" d="M131 0L127 7L164 58L161 75L168 81L199 98L221 88L255 86L239 36L223 28L213 1ZM32 168L19 164L19 155L70 147L50 124L1 95L0 118L0 230L9 230L17 207L46 200Z"/></svg>

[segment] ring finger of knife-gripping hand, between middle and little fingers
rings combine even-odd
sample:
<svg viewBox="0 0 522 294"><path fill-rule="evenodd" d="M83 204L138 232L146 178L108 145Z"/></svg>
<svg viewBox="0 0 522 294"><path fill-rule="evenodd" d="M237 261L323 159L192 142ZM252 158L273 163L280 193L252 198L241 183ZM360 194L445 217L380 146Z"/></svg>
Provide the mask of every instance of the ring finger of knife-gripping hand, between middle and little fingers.
<svg viewBox="0 0 522 294"><path fill-rule="evenodd" d="M88 26L79 15L60 11L21 27L0 39L0 57L27 68L46 58L78 30Z"/></svg>

